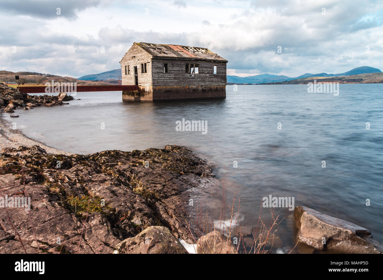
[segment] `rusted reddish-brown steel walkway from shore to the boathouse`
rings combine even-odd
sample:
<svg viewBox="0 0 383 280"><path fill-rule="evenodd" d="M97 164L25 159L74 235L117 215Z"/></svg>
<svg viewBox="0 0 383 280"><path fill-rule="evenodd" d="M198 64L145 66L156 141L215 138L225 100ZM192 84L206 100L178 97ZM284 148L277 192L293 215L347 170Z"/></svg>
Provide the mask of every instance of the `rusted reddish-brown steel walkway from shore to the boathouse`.
<svg viewBox="0 0 383 280"><path fill-rule="evenodd" d="M46 86L19 86L18 90L21 93L45 93L45 88ZM121 85L76 86L76 92L123 91L123 90L138 90L138 86L121 86ZM49 94L52 94L52 92L50 92Z"/></svg>

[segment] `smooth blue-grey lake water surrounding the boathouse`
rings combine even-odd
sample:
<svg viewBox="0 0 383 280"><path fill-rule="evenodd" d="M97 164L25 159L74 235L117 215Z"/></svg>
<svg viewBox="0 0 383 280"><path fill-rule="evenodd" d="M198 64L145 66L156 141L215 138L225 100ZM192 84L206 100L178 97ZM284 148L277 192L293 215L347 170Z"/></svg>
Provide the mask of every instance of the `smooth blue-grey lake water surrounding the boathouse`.
<svg viewBox="0 0 383 280"><path fill-rule="evenodd" d="M257 224L263 197L294 197L295 206L364 226L383 243L382 90L345 84L334 96L308 93L306 85L229 85L226 99L153 103L123 103L121 92L77 93L81 100L70 105L19 109L16 122L26 135L74 153L183 145L225 175L228 201L234 194L241 201L242 225ZM176 131L182 118L207 121L207 133ZM278 230L283 247L293 247L293 211L276 212L286 217Z"/></svg>

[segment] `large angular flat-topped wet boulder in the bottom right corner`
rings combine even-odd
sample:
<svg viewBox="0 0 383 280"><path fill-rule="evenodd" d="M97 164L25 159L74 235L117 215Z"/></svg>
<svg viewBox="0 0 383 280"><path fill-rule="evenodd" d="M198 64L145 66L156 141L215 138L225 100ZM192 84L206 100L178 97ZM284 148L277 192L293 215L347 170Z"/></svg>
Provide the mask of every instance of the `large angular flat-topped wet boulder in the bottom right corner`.
<svg viewBox="0 0 383 280"><path fill-rule="evenodd" d="M304 206L295 207L294 217L299 229L298 239L317 250L346 254L381 253L366 228Z"/></svg>

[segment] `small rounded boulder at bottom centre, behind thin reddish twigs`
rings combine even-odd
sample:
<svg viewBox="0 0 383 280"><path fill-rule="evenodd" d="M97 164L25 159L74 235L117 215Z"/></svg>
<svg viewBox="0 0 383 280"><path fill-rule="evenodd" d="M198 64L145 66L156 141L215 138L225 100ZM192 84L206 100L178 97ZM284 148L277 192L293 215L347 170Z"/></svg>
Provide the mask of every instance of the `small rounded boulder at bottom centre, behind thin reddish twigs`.
<svg viewBox="0 0 383 280"><path fill-rule="evenodd" d="M229 238L215 230L198 239L197 254L237 254L237 250Z"/></svg>

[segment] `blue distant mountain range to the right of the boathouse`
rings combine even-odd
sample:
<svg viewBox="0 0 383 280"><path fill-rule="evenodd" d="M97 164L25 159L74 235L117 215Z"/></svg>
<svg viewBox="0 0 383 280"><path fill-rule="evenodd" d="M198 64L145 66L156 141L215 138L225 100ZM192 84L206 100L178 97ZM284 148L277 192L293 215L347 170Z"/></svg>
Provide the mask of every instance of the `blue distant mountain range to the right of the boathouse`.
<svg viewBox="0 0 383 280"><path fill-rule="evenodd" d="M227 76L228 77L228 83L235 83L235 84L261 84L261 83L274 83L274 82L282 82L282 81L290 81L300 78L308 78L308 77L338 77L338 76L349 76L349 75L358 75L358 74L365 74L365 73L381 73L381 71L378 68L368 67L368 66L362 66L358 68L354 68L350 71L339 73L339 74L327 74L327 73L318 73L318 74L311 74L306 73L303 75L300 75L298 77L287 77L283 75L270 75L270 74L260 74L255 76L249 76L249 77L238 77L238 76Z"/></svg>

